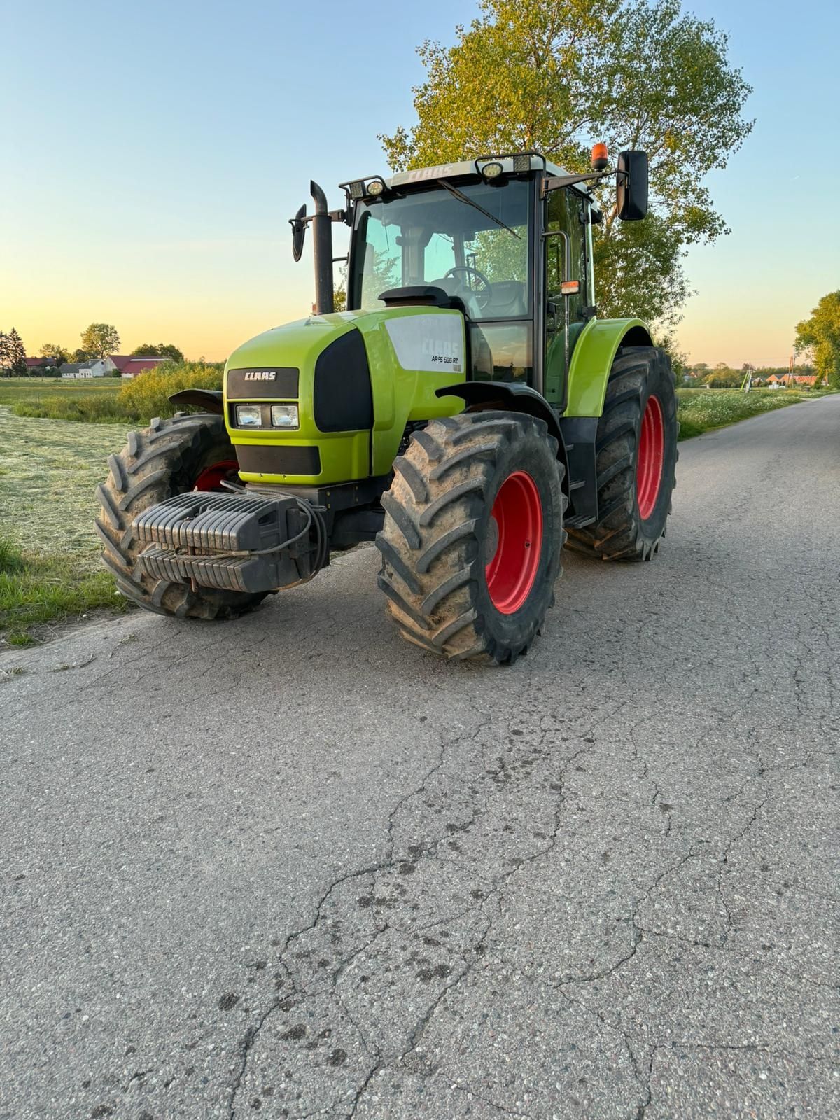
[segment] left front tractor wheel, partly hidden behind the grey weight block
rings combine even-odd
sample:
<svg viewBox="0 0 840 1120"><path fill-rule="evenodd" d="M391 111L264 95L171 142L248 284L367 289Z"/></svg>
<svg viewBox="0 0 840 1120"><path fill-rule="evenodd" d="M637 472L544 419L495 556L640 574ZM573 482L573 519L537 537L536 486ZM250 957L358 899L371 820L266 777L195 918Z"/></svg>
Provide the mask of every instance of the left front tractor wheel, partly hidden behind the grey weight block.
<svg viewBox="0 0 840 1120"><path fill-rule="evenodd" d="M192 489L218 489L226 475L235 477L236 452L224 419L211 413L181 413L152 420L143 431L129 432L128 445L109 457L109 477L96 487L102 506L96 532L102 562L119 590L144 610L177 618L235 618L252 610L268 592L217 591L171 584L146 575L138 557L144 548L133 534L137 515L158 502Z"/></svg>

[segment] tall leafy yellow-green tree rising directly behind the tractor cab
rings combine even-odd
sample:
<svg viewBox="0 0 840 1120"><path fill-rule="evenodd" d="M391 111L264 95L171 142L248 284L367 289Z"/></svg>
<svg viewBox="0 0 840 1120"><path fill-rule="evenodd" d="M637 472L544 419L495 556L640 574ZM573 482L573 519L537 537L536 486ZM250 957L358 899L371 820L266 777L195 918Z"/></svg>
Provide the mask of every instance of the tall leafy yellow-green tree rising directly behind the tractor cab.
<svg viewBox="0 0 840 1120"><path fill-rule="evenodd" d="M644 148L651 209L617 221L614 180L596 188L598 305L673 324L689 296L685 248L727 232L703 178L724 168L753 124L750 87L728 60L727 36L679 0L480 0L454 47L418 50L418 123L381 136L395 169L493 151L538 149L571 171L589 146Z"/></svg>

